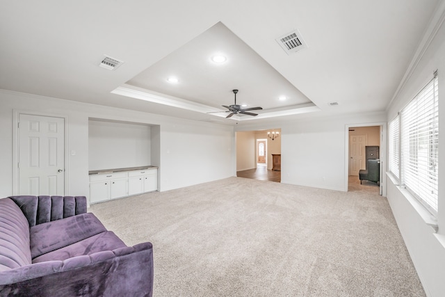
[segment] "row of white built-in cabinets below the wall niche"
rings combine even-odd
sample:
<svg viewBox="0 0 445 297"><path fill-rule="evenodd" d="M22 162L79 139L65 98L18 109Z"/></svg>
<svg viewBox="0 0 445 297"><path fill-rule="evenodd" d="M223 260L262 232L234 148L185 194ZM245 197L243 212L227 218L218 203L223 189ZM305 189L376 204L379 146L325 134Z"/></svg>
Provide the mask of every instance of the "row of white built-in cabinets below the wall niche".
<svg viewBox="0 0 445 297"><path fill-rule="evenodd" d="M158 190L158 169L103 172L90 175L90 203Z"/></svg>

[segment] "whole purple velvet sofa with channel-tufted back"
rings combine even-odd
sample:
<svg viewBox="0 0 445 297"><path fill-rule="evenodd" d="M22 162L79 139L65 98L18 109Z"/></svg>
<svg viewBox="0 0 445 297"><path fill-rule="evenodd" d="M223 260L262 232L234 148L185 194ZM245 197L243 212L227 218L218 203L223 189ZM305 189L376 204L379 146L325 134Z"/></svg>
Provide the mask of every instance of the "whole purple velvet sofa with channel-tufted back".
<svg viewBox="0 0 445 297"><path fill-rule="evenodd" d="M152 243L128 247L86 198L0 199L0 296L152 296Z"/></svg>

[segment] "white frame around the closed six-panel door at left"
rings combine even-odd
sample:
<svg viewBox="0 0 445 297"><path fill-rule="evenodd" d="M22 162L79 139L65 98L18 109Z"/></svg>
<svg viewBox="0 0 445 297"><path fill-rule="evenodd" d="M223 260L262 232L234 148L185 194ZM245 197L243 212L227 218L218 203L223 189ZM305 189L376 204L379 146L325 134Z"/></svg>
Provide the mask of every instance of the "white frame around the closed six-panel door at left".
<svg viewBox="0 0 445 297"><path fill-rule="evenodd" d="M19 116L21 114L24 115L38 115L43 117L51 117L51 118L63 118L65 125L64 125L64 140L63 144L65 145L65 150L63 152L63 166L65 166L65 170L63 171L63 195L67 195L67 193L70 193L68 191L68 117L67 115L59 115L55 113L44 113L44 112L35 112L35 111L28 111L24 109L13 109L13 195L19 194L19 170L18 170L18 163L19 163Z"/></svg>

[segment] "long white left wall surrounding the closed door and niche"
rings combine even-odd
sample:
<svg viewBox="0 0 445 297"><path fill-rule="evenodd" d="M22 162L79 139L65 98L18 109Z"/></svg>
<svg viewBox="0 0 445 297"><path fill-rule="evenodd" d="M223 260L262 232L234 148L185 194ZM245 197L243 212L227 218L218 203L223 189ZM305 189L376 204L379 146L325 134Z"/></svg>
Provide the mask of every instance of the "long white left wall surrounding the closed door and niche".
<svg viewBox="0 0 445 297"><path fill-rule="evenodd" d="M0 90L0 197L13 195L15 111L67 117L67 151L76 150L75 156L67 156L68 195L88 196L89 118L160 125L152 136L152 154L159 151L152 165L160 166L161 191L234 176L231 126Z"/></svg>

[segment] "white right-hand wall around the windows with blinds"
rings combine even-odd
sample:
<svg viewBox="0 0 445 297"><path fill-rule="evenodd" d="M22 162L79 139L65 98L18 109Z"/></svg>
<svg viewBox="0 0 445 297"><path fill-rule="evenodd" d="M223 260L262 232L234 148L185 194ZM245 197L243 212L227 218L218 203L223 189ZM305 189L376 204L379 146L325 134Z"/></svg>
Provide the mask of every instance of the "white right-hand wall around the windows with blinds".
<svg viewBox="0 0 445 297"><path fill-rule="evenodd" d="M387 121L391 121L416 93L439 72L439 164L445 164L445 26L432 39L394 102L389 106ZM428 296L444 296L445 292L445 168L439 166L439 209L434 230L426 225L419 204L412 203L404 191L387 178L387 198L396 218L407 250Z"/></svg>

